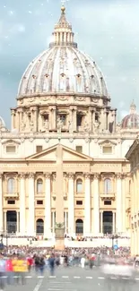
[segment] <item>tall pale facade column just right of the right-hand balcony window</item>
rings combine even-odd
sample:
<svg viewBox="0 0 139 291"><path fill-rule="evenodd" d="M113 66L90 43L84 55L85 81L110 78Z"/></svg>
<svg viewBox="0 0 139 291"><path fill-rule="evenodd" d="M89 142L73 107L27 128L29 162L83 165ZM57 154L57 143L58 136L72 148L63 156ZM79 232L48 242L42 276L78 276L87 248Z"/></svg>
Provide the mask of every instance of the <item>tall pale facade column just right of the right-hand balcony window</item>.
<svg viewBox="0 0 139 291"><path fill-rule="evenodd" d="M117 218L116 218L116 231L122 231L122 175L117 174Z"/></svg>

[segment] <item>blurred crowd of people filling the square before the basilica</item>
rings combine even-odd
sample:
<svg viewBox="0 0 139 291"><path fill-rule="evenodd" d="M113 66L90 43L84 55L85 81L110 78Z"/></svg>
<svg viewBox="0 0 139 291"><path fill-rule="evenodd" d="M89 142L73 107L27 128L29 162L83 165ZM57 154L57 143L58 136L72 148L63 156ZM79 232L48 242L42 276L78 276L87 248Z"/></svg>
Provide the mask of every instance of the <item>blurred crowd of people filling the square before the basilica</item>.
<svg viewBox="0 0 139 291"><path fill-rule="evenodd" d="M34 272L43 276L45 270L53 276L55 268L59 266L90 268L100 266L104 257L113 257L117 254L120 258L130 257L129 248L112 248L101 246L91 248L65 248L57 252L54 248L13 246L4 247L0 255L0 289L5 284L25 284L26 274Z"/></svg>

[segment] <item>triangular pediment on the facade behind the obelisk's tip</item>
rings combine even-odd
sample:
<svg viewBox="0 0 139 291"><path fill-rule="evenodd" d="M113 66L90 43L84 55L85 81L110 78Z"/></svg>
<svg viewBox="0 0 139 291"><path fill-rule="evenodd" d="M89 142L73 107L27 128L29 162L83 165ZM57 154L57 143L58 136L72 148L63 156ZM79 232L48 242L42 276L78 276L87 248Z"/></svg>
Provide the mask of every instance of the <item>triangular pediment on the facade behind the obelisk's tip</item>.
<svg viewBox="0 0 139 291"><path fill-rule="evenodd" d="M46 160L51 162L56 162L58 147L62 149L62 157L63 161L92 161L92 158L89 156L84 155L83 153L79 153L76 150L72 150L64 145L56 144L53 147L50 147L46 150L42 150L39 153L33 154L30 157L27 157L26 160L28 161L39 161L39 160Z"/></svg>

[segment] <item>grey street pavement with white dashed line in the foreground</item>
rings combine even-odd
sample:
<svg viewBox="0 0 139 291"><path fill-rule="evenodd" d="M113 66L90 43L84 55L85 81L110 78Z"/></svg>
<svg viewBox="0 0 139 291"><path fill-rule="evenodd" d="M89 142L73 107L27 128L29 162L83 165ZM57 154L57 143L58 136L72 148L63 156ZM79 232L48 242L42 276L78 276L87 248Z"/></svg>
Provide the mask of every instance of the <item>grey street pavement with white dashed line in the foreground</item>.
<svg viewBox="0 0 139 291"><path fill-rule="evenodd" d="M139 274L135 282L122 278L109 278L100 272L100 269L83 270L80 267L55 270L55 276L50 276L47 270L44 276L30 273L26 276L25 285L6 286L5 291L138 291Z"/></svg>

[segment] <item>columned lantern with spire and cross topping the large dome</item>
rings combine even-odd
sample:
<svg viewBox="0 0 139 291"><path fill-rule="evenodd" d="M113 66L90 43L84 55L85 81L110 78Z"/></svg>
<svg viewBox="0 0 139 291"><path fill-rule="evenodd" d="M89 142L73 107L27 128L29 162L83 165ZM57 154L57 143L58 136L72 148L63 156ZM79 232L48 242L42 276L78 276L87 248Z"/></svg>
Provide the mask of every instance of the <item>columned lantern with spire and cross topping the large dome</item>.
<svg viewBox="0 0 139 291"><path fill-rule="evenodd" d="M74 43L74 32L72 25L66 20L65 17L65 0L62 1L61 16L53 32L53 42L50 43L49 47L75 47L77 44Z"/></svg>

